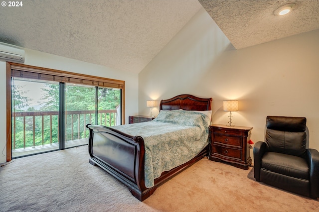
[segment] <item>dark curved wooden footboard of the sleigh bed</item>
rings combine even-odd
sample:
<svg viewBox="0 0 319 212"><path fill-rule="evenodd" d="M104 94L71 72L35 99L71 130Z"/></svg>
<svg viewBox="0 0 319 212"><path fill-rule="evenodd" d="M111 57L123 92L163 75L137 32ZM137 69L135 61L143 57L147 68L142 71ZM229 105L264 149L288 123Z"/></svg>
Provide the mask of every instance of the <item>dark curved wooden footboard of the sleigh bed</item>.
<svg viewBox="0 0 319 212"><path fill-rule="evenodd" d="M155 189L145 187L143 138L101 125L87 124L87 127L90 129L89 162L128 186L140 201L149 197Z"/></svg>

